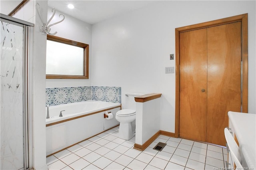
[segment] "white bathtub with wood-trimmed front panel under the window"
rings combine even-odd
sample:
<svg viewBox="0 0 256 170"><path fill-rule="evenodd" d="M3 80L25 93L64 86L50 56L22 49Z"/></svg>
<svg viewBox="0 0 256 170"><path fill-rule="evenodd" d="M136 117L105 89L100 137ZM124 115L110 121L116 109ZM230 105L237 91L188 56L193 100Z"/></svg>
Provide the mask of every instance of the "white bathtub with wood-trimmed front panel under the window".
<svg viewBox="0 0 256 170"><path fill-rule="evenodd" d="M54 154L118 125L115 115L120 109L120 103L104 101L50 106L50 119L46 119L46 155ZM60 111L63 117L59 117ZM113 119L104 118L106 111L114 115Z"/></svg>

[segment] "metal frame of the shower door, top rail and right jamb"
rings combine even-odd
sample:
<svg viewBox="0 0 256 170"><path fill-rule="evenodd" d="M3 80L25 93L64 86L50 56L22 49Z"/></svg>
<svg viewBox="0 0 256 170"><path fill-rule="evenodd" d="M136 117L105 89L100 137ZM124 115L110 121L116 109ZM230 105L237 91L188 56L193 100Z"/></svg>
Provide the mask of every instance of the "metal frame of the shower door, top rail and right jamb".
<svg viewBox="0 0 256 170"><path fill-rule="evenodd" d="M33 167L33 125L32 125L32 47L34 24L0 14L3 22L8 22L24 28L24 51L23 51L23 133L24 133L24 169L28 170Z"/></svg>

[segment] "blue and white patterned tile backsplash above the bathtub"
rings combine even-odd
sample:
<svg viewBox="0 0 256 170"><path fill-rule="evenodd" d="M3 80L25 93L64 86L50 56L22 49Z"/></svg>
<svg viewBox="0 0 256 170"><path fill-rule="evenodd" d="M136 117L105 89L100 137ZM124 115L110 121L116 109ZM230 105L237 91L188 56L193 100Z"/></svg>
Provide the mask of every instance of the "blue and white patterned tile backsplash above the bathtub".
<svg viewBox="0 0 256 170"><path fill-rule="evenodd" d="M46 88L46 106L88 100L121 103L121 87L85 86Z"/></svg>

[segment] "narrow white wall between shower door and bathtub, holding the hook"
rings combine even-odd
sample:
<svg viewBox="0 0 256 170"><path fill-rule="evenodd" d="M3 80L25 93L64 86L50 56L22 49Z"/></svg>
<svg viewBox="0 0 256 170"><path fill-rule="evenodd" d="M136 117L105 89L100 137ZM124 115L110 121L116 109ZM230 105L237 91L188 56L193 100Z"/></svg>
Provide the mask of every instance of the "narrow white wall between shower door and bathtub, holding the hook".
<svg viewBox="0 0 256 170"><path fill-rule="evenodd" d="M14 18L34 23L32 36L33 47L29 56L29 114L30 133L33 133L33 155L30 155L30 166L34 169L47 169L46 165L46 128L45 128L45 68L46 68L46 35L40 32L42 22L36 13L36 3L40 5L40 15L47 17L47 1L29 1ZM32 116L31 116L32 114ZM31 158L32 156L32 158ZM32 159L32 160L31 160ZM32 161L32 165L31 165ZM30 167L31 168L31 167Z"/></svg>

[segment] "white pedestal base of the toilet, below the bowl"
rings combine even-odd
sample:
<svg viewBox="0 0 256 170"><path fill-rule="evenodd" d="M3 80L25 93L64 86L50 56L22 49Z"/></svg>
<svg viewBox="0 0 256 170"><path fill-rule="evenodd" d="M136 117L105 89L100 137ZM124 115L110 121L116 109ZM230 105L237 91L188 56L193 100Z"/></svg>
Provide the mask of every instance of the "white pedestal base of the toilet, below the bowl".
<svg viewBox="0 0 256 170"><path fill-rule="evenodd" d="M118 137L130 140L133 136L135 136L135 132L132 131L131 123L120 123Z"/></svg>

